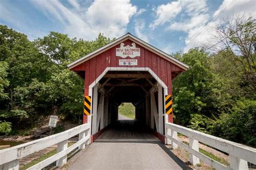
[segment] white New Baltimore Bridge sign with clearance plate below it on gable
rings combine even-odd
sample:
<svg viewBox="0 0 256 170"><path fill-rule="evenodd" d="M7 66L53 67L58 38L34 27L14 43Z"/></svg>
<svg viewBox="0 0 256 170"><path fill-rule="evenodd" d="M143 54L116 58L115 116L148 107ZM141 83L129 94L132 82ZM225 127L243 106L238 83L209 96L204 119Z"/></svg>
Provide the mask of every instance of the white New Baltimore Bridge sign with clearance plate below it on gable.
<svg viewBox="0 0 256 170"><path fill-rule="evenodd" d="M136 56L140 56L140 48L136 48L136 44L133 42L132 46L127 45L124 46L124 43L120 44L120 48L116 48L116 56L120 56L121 58L126 58L129 56L130 58L134 58ZM137 59L122 59L119 60L120 66L137 66Z"/></svg>

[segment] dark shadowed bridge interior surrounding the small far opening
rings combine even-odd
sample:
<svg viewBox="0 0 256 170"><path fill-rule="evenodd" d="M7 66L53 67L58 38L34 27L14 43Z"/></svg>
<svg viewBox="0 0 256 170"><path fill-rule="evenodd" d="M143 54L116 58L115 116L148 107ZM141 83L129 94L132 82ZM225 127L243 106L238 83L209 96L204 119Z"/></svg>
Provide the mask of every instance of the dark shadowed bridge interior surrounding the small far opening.
<svg viewBox="0 0 256 170"><path fill-rule="evenodd" d="M118 119L118 106L126 102L132 103L136 108L137 121L146 124L146 101L150 89L156 84L156 80L149 73L109 72L99 83L102 84L109 100L111 122Z"/></svg>

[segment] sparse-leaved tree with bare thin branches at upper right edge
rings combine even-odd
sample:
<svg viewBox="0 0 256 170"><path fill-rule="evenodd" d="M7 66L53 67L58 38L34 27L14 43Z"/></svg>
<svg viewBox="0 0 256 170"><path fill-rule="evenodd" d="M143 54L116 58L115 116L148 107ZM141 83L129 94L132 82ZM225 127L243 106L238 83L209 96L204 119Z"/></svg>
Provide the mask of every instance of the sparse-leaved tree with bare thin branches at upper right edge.
<svg viewBox="0 0 256 170"><path fill-rule="evenodd" d="M228 51L229 62L234 72L246 86L256 91L256 20L252 17L237 16L226 20L217 27L216 36L223 50ZM217 49L218 50L218 49Z"/></svg>

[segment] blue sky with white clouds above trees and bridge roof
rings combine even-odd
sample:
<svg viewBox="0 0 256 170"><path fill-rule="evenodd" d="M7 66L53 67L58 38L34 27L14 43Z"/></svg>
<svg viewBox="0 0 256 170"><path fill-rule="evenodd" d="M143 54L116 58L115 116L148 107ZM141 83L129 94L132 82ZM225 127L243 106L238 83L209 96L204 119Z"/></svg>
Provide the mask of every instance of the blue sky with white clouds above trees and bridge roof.
<svg viewBox="0 0 256 170"><path fill-rule="evenodd" d="M237 15L256 18L256 0L0 0L0 24L30 40L50 31L95 40L130 32L166 53L211 45L214 28Z"/></svg>

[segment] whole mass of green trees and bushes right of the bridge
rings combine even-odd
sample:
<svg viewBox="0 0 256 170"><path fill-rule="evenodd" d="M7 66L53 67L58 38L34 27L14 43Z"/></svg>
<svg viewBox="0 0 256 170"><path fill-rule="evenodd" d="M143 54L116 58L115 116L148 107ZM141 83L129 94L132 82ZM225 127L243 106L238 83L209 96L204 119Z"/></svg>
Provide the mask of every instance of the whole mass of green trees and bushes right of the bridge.
<svg viewBox="0 0 256 170"><path fill-rule="evenodd" d="M190 66L173 81L174 122L255 147L255 20L234 21L218 28L221 51L173 55Z"/></svg>

